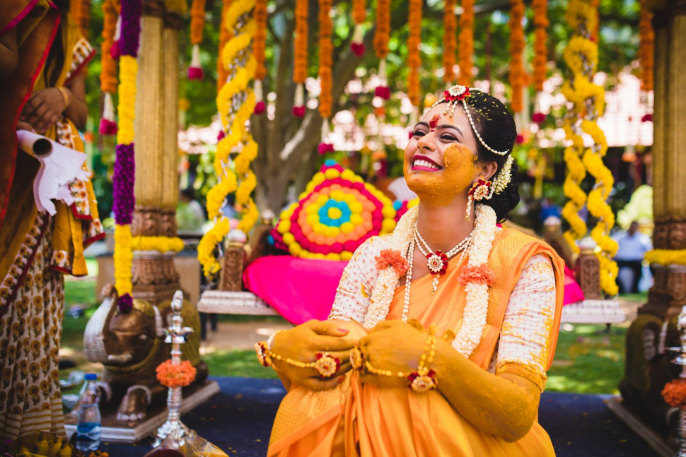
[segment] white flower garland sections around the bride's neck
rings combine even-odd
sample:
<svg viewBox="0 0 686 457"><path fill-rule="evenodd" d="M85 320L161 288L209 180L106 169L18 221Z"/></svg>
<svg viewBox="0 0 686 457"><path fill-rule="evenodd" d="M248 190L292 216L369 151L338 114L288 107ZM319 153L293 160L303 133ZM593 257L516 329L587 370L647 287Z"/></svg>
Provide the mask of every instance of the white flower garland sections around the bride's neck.
<svg viewBox="0 0 686 457"><path fill-rule="evenodd" d="M419 206L407 210L398 222L393 234L390 235L389 248L400 251L404 259L407 259L407 248L414 235L414 227L417 225ZM490 206L477 205L474 241L468 253L468 266L484 266L488 263L493 239L496 235L496 213ZM412 268L412 265L409 266ZM364 316L364 327L373 328L388 316L390 302L395 295L398 276L393 267L379 271L376 285L371 292L369 307ZM489 289L488 285L472 281L465 285L467 292L463 324L455 328L457 336L453 340L453 348L465 357L469 357L481 340L486 326L488 312Z"/></svg>

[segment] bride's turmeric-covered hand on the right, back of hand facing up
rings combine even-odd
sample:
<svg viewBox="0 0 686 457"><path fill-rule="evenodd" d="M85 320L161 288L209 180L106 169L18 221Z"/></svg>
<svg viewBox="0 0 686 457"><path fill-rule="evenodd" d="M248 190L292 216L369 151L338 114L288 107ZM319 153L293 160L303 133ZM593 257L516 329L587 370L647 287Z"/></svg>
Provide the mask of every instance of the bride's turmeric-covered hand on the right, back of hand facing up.
<svg viewBox="0 0 686 457"><path fill-rule="evenodd" d="M385 387L407 387L407 375L417 371L422 354L428 352L426 339L426 333L416 321L409 324L403 321L381 322L360 340L359 349L364 361L376 369L389 370L392 375L379 376L363 369L361 381ZM402 377L397 376L399 372Z"/></svg>

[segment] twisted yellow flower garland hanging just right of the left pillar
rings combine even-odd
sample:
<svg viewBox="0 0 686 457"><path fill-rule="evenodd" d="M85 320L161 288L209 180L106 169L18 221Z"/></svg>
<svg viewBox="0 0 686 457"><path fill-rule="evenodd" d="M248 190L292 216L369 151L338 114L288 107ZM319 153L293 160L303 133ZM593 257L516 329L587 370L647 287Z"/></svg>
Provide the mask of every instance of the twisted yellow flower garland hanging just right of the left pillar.
<svg viewBox="0 0 686 457"><path fill-rule="evenodd" d="M257 143L245 128L255 111L255 93L249 87L257 69L255 56L250 52L256 31L251 15L254 6L255 0L234 1L224 16L223 27L232 35L221 51L224 68L229 74L217 95L217 109L225 136L217 143L214 155L218 182L207 193L207 213L215 224L198 244L198 261L208 277L219 271L219 262L214 256L216 245L230 229L228 218L221 213L226 196L236 192L236 206L241 213L239 230L248 234L258 218L257 206L250 196L257 185L255 174L250 170L250 163L257 157ZM233 102L235 99L244 101L237 104ZM233 160L231 170L230 153L235 151L240 152Z"/></svg>

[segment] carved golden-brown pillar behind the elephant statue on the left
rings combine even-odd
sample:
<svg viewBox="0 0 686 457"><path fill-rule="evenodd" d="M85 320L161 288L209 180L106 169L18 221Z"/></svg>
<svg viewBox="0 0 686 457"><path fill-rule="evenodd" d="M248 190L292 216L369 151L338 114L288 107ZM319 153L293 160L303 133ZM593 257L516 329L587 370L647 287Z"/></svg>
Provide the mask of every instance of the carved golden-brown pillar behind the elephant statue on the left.
<svg viewBox="0 0 686 457"><path fill-rule="evenodd" d="M136 144L136 211L132 222L134 236L176 236L178 27L174 29L167 25L178 24L180 20L166 20L167 16L173 16L173 14L165 11L161 0L143 1L134 138ZM175 60L174 67L173 60ZM169 105L170 100L173 100L173 106ZM172 112L173 117L170 118L169 112ZM173 145L168 134L172 129ZM169 155L171 159L167 157ZM173 177L170 176L172 167ZM170 300L173 293L180 288L173 255L157 251L136 251L132 273L134 297L153 304Z"/></svg>

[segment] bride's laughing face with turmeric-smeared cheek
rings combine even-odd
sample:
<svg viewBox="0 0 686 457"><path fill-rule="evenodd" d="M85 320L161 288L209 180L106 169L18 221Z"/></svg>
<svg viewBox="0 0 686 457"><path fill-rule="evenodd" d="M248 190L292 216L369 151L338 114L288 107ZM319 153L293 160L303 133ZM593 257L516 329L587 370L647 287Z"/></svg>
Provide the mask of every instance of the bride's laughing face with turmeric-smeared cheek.
<svg viewBox="0 0 686 457"><path fill-rule="evenodd" d="M476 138L461 104L453 117L443 115L446 104L429 110L414 126L405 148L403 174L407 186L422 201L447 206L490 168L477 160ZM494 163L494 162L492 162Z"/></svg>

